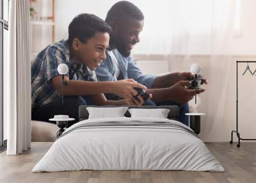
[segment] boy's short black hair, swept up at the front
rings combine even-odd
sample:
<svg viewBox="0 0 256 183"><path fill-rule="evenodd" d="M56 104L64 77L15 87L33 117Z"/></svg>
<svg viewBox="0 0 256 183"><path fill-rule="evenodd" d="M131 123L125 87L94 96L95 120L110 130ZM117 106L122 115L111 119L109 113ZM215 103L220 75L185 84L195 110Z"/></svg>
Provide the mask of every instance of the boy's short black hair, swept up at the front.
<svg viewBox="0 0 256 183"><path fill-rule="evenodd" d="M86 43L96 33L110 33L110 26L96 15L82 13L77 15L68 26L68 45L72 45L74 38Z"/></svg>

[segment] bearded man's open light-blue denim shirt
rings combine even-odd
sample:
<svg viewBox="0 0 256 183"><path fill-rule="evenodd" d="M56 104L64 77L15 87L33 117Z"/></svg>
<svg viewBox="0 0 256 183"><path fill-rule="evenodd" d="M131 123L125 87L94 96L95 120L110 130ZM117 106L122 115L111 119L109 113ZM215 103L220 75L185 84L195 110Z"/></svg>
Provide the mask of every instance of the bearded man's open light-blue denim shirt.
<svg viewBox="0 0 256 183"><path fill-rule="evenodd" d="M138 83L147 86L147 88L152 87L152 84L157 77L156 75L143 74L131 56L124 57L117 49L113 49L112 51L120 68L120 76L118 77L118 80L132 78ZM99 81L116 81L115 65L113 65L113 61L109 56L109 51L106 51L106 59L100 64L100 67L97 67L95 72Z"/></svg>

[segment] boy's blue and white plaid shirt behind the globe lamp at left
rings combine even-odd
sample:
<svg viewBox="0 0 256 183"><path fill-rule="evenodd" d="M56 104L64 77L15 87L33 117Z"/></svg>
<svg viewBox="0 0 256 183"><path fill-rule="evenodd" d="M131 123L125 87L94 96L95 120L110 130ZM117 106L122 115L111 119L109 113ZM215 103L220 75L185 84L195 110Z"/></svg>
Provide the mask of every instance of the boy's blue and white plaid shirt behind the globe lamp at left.
<svg viewBox="0 0 256 183"><path fill-rule="evenodd" d="M51 80L60 75L57 70L60 63L68 65L69 72L66 75L69 79L97 81L94 71L86 65L77 64L70 56L67 40L48 45L31 61L31 107L33 111L60 97Z"/></svg>

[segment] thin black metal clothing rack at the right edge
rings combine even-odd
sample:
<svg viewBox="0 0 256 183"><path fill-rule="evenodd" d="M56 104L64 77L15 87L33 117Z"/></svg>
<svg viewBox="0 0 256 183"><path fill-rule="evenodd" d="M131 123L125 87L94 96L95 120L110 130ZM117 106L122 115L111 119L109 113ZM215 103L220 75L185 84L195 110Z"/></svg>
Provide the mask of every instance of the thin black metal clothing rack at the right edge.
<svg viewBox="0 0 256 183"><path fill-rule="evenodd" d="M231 132L231 140L230 143L233 143L233 132L236 133L238 138L237 147L240 147L240 140L256 140L256 139L246 139L241 138L240 133L238 131L238 65L239 63L256 63L256 61L236 61L236 131Z"/></svg>

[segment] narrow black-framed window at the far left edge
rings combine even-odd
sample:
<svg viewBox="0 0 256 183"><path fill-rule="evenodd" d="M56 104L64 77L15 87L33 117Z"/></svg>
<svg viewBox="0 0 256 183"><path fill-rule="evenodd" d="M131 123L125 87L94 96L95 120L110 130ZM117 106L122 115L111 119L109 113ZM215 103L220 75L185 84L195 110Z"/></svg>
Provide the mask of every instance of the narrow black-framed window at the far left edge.
<svg viewBox="0 0 256 183"><path fill-rule="evenodd" d="M6 124L3 122L3 64L7 60L8 14L9 0L0 0L0 147L6 145Z"/></svg>

